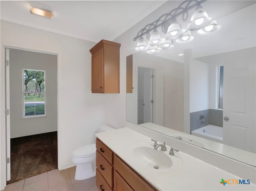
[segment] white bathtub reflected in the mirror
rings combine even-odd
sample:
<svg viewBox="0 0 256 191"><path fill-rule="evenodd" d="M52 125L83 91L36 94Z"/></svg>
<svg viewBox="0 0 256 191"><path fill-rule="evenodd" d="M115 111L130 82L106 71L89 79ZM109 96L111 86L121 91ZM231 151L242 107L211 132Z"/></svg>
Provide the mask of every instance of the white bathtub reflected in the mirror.
<svg viewBox="0 0 256 191"><path fill-rule="evenodd" d="M218 143L222 143L223 141L223 128L215 125L206 125L192 131L191 134Z"/></svg>

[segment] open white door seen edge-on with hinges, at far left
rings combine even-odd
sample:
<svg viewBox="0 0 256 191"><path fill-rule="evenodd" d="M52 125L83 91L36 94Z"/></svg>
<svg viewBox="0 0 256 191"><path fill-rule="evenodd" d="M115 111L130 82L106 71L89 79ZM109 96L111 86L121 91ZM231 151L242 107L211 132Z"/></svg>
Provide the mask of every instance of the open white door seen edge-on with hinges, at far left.
<svg viewBox="0 0 256 191"><path fill-rule="evenodd" d="M9 49L5 49L5 109L6 109L6 115L5 115L5 121L6 121L6 181L9 181L11 179L11 147L10 147L10 71L9 71Z"/></svg>

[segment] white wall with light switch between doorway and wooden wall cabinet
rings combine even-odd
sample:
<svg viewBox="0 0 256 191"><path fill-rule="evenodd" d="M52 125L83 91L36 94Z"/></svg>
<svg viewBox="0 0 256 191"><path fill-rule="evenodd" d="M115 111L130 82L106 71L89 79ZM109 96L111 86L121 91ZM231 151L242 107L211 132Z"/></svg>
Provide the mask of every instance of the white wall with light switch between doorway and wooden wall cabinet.
<svg viewBox="0 0 256 191"><path fill-rule="evenodd" d="M105 124L105 98L115 98L116 96L91 93L91 54L89 49L95 44L1 21L1 55L3 53L2 45L58 53L59 169L72 165L72 152L76 148L95 142L94 133L99 125ZM1 65L3 65L2 61L3 59L1 59ZM2 76L3 68L0 72ZM125 74L122 76L125 77ZM124 91L125 85L124 81L122 82L122 91ZM79 98L70 99L70 93L78 93ZM125 113L124 103L125 99L121 104L123 113ZM109 104L112 103L109 102ZM120 112L116 106L113 106L112 109ZM121 121L125 123L122 118Z"/></svg>

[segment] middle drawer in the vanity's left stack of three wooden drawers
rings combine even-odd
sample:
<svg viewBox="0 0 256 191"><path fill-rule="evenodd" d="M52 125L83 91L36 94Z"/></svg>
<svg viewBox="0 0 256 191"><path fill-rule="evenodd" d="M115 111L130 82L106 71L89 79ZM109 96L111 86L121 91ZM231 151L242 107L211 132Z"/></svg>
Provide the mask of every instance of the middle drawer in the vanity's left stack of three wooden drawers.
<svg viewBox="0 0 256 191"><path fill-rule="evenodd" d="M113 167L108 163L108 161L96 150L96 167L98 171L102 174L108 185L112 188L112 177L113 177Z"/></svg>

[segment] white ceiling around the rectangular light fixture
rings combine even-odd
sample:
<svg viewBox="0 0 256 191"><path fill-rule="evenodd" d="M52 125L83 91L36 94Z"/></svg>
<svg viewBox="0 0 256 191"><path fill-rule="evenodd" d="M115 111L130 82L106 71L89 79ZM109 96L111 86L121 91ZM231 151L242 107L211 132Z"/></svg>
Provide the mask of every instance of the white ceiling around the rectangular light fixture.
<svg viewBox="0 0 256 191"><path fill-rule="evenodd" d="M88 41L112 41L165 1L1 1L1 20ZM31 14L30 6L54 12ZM132 11L131 11L132 10Z"/></svg>

